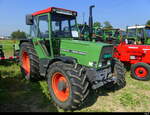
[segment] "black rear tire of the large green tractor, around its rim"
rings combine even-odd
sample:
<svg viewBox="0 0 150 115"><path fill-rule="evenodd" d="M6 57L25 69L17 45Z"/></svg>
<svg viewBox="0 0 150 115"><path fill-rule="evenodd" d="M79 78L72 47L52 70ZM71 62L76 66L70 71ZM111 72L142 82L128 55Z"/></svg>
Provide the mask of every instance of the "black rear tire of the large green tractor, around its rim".
<svg viewBox="0 0 150 115"><path fill-rule="evenodd" d="M30 72L28 74L26 70L23 68L23 52L25 52L29 57ZM21 44L20 53L19 53L19 62L20 62L20 69L22 72L22 76L26 80L31 80L31 81L41 80L40 72L39 72L39 58L32 44L28 42L24 42Z"/></svg>

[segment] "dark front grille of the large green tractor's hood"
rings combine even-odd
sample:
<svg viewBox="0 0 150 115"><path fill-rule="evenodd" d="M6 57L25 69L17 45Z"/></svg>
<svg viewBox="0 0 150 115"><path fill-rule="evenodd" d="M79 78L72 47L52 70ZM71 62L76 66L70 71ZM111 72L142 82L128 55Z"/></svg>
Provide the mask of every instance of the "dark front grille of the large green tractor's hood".
<svg viewBox="0 0 150 115"><path fill-rule="evenodd" d="M102 48L99 63L102 63L103 66L105 66L107 64L107 60L110 59L110 58L105 59L104 58L105 54L112 55L113 54L113 46L105 46Z"/></svg>

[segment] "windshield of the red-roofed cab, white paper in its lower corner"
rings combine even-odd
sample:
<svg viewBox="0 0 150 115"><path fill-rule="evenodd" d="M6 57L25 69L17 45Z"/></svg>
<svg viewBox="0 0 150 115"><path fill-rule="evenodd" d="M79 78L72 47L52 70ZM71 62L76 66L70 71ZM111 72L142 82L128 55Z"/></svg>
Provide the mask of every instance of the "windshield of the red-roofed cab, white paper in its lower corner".
<svg viewBox="0 0 150 115"><path fill-rule="evenodd" d="M78 37L75 16L52 14L52 37Z"/></svg>

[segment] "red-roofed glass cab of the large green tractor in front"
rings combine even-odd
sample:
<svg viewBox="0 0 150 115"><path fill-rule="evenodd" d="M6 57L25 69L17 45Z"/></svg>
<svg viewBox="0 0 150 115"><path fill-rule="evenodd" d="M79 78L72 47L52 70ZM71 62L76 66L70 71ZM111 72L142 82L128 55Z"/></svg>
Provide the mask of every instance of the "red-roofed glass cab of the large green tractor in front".
<svg viewBox="0 0 150 115"><path fill-rule="evenodd" d="M35 47L40 50L40 57L52 58L60 55L61 40L79 37L76 16L75 11L56 7L26 16L26 23L30 25L30 36Z"/></svg>

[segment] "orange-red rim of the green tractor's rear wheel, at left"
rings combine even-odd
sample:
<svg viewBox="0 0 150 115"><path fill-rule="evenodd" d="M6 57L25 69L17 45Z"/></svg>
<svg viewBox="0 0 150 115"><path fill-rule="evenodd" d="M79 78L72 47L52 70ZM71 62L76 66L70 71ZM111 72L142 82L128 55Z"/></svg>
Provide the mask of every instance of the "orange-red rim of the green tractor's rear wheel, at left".
<svg viewBox="0 0 150 115"><path fill-rule="evenodd" d="M26 75L30 74L30 58L27 52L22 53L22 67L25 70Z"/></svg>

